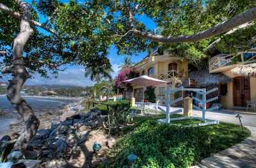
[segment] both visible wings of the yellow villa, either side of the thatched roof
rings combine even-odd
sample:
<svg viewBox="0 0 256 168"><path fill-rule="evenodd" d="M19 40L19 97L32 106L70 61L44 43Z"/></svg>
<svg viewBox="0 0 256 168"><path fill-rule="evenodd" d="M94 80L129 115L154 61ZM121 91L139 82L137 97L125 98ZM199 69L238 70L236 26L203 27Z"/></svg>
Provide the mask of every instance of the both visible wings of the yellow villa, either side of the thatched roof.
<svg viewBox="0 0 256 168"><path fill-rule="evenodd" d="M209 60L209 73L223 73L232 79L228 84L218 85L220 95L220 103L228 109L245 109L246 100L256 103L256 77L244 77L234 75L230 70L239 65L255 63L256 48L252 48L246 52L238 52L236 56L232 54L219 54ZM167 86L179 88L182 82L188 76L188 61L182 61L179 57L172 57L168 52L159 53L158 50L145 57L136 65L138 74L148 75L156 79L165 80L168 84L156 86L155 95L164 98L164 94L159 88L166 89ZM143 86L133 86L133 96L136 102L142 100L142 91L147 88ZM161 102L160 102L161 103Z"/></svg>

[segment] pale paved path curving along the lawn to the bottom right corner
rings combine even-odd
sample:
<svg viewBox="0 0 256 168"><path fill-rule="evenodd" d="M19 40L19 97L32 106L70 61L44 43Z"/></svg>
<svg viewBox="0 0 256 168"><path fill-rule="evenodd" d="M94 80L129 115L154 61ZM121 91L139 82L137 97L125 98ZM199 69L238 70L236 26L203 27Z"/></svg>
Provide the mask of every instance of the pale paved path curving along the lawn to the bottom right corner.
<svg viewBox="0 0 256 168"><path fill-rule="evenodd" d="M161 106L163 109L164 106ZM175 107L172 107L173 109ZM175 108L182 109L182 108ZM202 112L193 110L192 116L202 118ZM183 114L180 112L179 114ZM241 122L243 126L248 128L252 135L245 139L240 144L236 144L231 148L225 149L220 153L216 153L211 157L204 158L201 163L193 166L193 168L222 168L222 167L236 167L236 168L256 168L256 112L246 111L211 111L205 113L205 118L224 121L227 123L235 123L240 125L237 114L241 115ZM191 167L192 168L192 167Z"/></svg>

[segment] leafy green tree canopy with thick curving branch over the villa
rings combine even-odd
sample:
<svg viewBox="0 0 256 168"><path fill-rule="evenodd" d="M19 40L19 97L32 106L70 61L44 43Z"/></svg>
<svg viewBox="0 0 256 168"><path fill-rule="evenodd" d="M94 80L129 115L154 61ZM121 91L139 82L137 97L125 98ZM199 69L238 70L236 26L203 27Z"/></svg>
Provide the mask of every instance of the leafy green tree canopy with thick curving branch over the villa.
<svg viewBox="0 0 256 168"><path fill-rule="evenodd" d="M198 69L205 67L201 59L205 57L207 46L215 40L222 39L222 43L215 45L217 49L230 52L232 49L237 50L235 46L241 46L241 43L253 43L256 39L255 24L252 22L256 17L256 8L255 2L252 1L150 2L142 0L124 1L118 4L114 2L114 4L113 8L120 12L122 10L123 13L122 17L116 19L116 22L113 21L113 25L120 23L124 25L120 29L116 26L118 30L114 35L122 41L123 45L120 45L122 50L127 43L131 43L131 36L140 37L154 41L149 47L161 45L173 56L187 59ZM138 20L139 14L147 15L154 20L157 29L145 30ZM110 13L109 17L110 15L115 14ZM252 24L249 24L250 22ZM244 24L247 24L246 29L237 28ZM229 30L232 30L232 33L225 34ZM243 40L240 40L238 36Z"/></svg>

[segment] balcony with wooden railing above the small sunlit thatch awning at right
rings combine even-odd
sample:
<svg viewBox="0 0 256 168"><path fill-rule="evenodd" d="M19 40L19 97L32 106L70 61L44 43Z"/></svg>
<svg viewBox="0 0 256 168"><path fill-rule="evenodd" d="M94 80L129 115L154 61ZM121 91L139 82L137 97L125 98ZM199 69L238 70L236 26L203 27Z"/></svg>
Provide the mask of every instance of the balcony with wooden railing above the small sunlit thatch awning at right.
<svg viewBox="0 0 256 168"><path fill-rule="evenodd" d="M232 54L218 54L209 61L209 72L217 73L225 70L231 70L237 65L244 65L256 62L256 47L245 51L237 52L236 55Z"/></svg>

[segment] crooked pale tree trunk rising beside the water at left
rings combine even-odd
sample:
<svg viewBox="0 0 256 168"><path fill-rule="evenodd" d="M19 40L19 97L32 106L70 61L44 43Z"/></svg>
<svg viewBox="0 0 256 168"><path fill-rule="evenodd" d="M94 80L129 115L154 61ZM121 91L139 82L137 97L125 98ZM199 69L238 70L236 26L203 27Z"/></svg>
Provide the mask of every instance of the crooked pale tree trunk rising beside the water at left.
<svg viewBox="0 0 256 168"><path fill-rule="evenodd" d="M7 88L7 98L26 123L26 127L17 139L17 142L13 147L13 151L21 151L24 153L29 141L36 134L40 121L36 118L28 103L20 95L20 89L24 82L29 78L29 74L24 66L23 52L24 46L33 33L33 29L31 29L29 25L31 14L28 3L19 0L15 0L15 3L20 6L23 14L20 22L20 33L13 42L12 66L3 68L2 72L13 73L13 79Z"/></svg>

